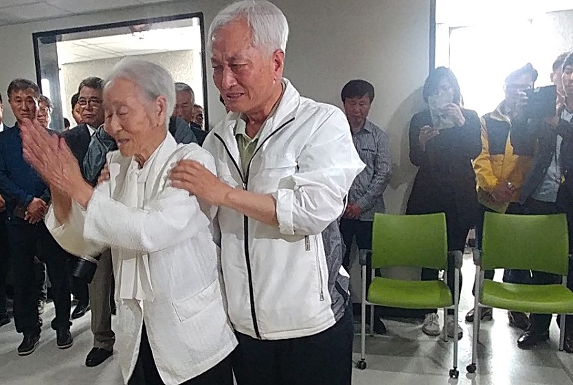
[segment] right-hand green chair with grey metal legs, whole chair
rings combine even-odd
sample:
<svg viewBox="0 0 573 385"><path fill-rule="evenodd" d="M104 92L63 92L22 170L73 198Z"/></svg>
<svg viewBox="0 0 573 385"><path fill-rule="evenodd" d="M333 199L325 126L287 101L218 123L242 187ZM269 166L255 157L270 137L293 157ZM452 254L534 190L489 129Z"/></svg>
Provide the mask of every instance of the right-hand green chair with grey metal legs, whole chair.
<svg viewBox="0 0 573 385"><path fill-rule="evenodd" d="M510 215L486 212L482 250L473 249L475 301L481 307L497 307L537 314L561 314L559 350L565 339L565 314L573 314L573 293L567 288L568 229L565 214ZM537 270L562 276L562 284L524 285L484 279L493 269ZM473 317L473 342L469 373L476 370L480 317Z"/></svg>

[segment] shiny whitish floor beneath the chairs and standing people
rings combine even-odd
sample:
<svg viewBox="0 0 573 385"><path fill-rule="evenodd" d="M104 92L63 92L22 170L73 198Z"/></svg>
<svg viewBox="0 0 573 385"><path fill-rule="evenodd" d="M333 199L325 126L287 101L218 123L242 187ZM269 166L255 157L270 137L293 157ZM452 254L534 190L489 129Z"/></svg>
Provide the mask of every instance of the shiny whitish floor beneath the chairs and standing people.
<svg viewBox="0 0 573 385"><path fill-rule="evenodd" d="M469 256L464 261L464 278L460 305L462 319L473 303L473 265ZM14 331L14 323L0 329L1 385L122 384L120 370L114 360L108 360L96 368L84 366L85 355L91 349L89 314L74 321L72 333L75 343L64 351L56 348L56 336L49 329L49 320L53 316L54 308L48 305L43 314L41 344L28 357L16 354L21 336ZM368 338L368 369L355 369L352 383L573 385L573 355L558 351L559 329L555 322L551 325L550 342L541 344L539 349L521 351L515 346L519 331L508 327L505 312L495 310L493 317L493 322L483 324L477 375L469 375L465 370L471 360L471 325L462 322L465 333L460 340L460 378L450 380L451 342L425 336L420 322L385 320L390 333ZM359 358L359 342L359 336L356 336L355 360Z"/></svg>

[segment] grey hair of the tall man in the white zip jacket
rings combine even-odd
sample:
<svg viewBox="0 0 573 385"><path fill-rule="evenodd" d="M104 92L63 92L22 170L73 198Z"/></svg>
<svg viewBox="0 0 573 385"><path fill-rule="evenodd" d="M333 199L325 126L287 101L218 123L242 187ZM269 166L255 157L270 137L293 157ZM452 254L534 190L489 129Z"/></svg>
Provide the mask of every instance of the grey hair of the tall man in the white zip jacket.
<svg viewBox="0 0 573 385"><path fill-rule="evenodd" d="M253 46L266 50L269 54L276 50L287 52L289 23L282 11L266 0L243 0L227 5L219 11L209 28L208 42L219 29L236 21L246 19L253 34Z"/></svg>

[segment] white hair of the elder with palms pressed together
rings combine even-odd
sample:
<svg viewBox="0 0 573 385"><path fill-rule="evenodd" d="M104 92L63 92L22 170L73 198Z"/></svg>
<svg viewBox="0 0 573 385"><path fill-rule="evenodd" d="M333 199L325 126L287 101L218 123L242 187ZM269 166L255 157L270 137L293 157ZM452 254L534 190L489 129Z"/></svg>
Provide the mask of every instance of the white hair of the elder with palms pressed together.
<svg viewBox="0 0 573 385"><path fill-rule="evenodd" d="M169 118L175 108L175 85L171 74L161 65L144 61L138 58L123 58L111 70L106 80L106 87L117 78L131 80L144 92L142 95L150 102L159 96L166 100L165 126L169 125Z"/></svg>

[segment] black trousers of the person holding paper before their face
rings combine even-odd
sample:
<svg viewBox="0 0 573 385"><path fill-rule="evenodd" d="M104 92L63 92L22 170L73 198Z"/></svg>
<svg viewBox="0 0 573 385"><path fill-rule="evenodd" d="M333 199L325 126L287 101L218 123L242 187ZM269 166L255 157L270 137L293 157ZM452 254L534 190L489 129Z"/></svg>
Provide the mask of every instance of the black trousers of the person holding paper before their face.
<svg viewBox="0 0 573 385"><path fill-rule="evenodd" d="M466 239L468 236L469 229L471 228L470 223L463 223L456 212L445 212L446 214L446 231L448 237L448 250L464 252L466 247ZM447 285L451 291L451 296L453 298L454 290L454 280L456 272L456 260L453 257L448 256L448 270L447 270ZM422 269L422 281L436 281L438 279L438 270L434 269ZM460 271L460 283L458 285L460 293L462 292L462 272ZM460 297L458 297L460 298ZM430 309L430 312L436 313L437 309ZM448 314L453 314L453 309L448 309Z"/></svg>

